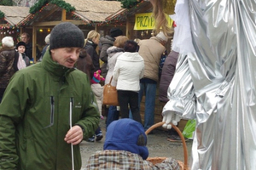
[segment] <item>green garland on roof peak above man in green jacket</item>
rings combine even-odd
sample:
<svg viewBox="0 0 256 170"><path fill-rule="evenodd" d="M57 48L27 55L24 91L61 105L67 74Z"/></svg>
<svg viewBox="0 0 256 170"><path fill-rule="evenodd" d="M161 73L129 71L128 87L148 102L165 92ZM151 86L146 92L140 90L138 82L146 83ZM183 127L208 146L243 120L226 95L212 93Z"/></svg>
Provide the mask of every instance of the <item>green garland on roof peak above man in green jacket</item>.
<svg viewBox="0 0 256 170"><path fill-rule="evenodd" d="M63 0L39 0L38 3L36 3L34 6L30 8L29 12L31 14L35 14L36 12L38 12L38 10L40 10L40 8L44 7L44 5L46 5L47 3L52 3L61 8L64 8L67 10L67 12L76 10L76 8L74 8L69 3L66 3Z"/></svg>

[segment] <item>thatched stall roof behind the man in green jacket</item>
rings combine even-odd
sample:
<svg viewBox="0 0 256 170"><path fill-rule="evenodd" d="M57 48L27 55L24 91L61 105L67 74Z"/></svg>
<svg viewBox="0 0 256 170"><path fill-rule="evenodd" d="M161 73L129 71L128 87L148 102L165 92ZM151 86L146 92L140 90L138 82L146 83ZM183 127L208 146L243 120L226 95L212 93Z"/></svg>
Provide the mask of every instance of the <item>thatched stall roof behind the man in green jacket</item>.
<svg viewBox="0 0 256 170"><path fill-rule="evenodd" d="M121 8L120 2L100 1L100 0L62 0L74 8L73 11L67 12L67 21L77 21L77 25L86 25L90 23L103 22L114 12ZM35 4L36 5L36 4ZM29 14L24 20L21 20L19 26L55 26L56 22L61 21L61 5L49 3L42 5L37 12ZM52 22L52 23L50 23ZM44 24L42 24L44 23Z"/></svg>

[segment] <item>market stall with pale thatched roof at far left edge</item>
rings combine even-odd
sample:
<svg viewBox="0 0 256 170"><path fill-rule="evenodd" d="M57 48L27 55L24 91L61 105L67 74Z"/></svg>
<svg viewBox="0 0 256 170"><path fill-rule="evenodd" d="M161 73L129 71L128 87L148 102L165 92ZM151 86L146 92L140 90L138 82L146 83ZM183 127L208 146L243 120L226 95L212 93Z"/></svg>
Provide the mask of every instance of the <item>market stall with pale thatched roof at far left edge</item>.
<svg viewBox="0 0 256 170"><path fill-rule="evenodd" d="M28 7L0 6L0 40L10 36L16 43L20 38L20 27L17 24L28 14Z"/></svg>

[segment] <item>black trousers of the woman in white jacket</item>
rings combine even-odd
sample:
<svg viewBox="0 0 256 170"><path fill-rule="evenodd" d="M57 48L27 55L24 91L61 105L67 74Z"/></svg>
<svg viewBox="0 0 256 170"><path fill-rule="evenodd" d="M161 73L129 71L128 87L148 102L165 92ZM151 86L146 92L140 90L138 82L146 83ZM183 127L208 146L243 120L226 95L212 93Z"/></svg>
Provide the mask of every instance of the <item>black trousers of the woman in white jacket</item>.
<svg viewBox="0 0 256 170"><path fill-rule="evenodd" d="M142 123L142 118L138 108L138 93L133 91L118 90L119 106L122 118L129 118L129 108L133 120Z"/></svg>

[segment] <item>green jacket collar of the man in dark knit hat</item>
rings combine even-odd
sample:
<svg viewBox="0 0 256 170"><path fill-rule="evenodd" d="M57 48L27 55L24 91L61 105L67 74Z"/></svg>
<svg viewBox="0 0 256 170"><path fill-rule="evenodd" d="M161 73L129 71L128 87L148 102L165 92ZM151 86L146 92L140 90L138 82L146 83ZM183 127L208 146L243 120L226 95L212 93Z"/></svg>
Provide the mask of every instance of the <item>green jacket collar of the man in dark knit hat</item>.
<svg viewBox="0 0 256 170"><path fill-rule="evenodd" d="M49 49L44 54L42 65L46 71L49 71L51 74L55 75L55 77L66 76L67 73L74 71L74 68L70 69L55 62L49 54Z"/></svg>

